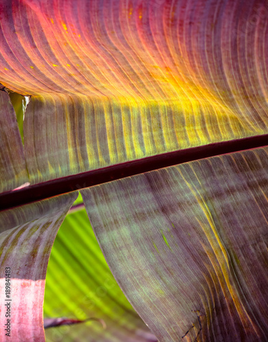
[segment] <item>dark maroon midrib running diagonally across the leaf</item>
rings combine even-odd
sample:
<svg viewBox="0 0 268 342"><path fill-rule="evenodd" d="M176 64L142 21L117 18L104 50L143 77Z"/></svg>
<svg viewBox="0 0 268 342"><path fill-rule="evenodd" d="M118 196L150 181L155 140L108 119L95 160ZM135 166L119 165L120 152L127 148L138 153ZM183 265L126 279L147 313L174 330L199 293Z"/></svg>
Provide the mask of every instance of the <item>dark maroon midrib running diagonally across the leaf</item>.
<svg viewBox="0 0 268 342"><path fill-rule="evenodd" d="M268 145L268 134L246 137L239 140L218 142L184 150L176 150L161 155L145 157L134 161L126 161L105 168L73 174L51 181L29 185L23 189L0 194L0 210L11 209L19 205L26 205L38 200L66 194L85 187L92 187L125 177L142 174L168 166L196 161L226 153L235 153L252 148Z"/></svg>

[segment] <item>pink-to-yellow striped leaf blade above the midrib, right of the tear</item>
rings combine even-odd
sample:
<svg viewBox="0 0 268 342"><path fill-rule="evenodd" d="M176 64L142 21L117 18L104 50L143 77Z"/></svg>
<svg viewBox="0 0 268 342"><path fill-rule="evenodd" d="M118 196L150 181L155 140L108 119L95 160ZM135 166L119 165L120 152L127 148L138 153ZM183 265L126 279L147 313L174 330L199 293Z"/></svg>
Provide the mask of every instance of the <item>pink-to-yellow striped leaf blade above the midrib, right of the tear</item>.
<svg viewBox="0 0 268 342"><path fill-rule="evenodd" d="M31 183L268 133L262 1L11 4L0 79L31 95Z"/></svg>

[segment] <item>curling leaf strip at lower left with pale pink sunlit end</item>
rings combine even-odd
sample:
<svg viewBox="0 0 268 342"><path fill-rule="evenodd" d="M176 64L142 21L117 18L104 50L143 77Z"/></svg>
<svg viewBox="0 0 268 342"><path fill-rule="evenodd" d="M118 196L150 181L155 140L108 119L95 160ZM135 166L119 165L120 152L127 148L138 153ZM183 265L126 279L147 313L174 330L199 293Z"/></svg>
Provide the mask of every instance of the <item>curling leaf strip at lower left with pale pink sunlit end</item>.
<svg viewBox="0 0 268 342"><path fill-rule="evenodd" d="M57 229L76 196L72 193L1 211L1 341L44 341L46 267ZM5 330L8 323L10 331Z"/></svg>

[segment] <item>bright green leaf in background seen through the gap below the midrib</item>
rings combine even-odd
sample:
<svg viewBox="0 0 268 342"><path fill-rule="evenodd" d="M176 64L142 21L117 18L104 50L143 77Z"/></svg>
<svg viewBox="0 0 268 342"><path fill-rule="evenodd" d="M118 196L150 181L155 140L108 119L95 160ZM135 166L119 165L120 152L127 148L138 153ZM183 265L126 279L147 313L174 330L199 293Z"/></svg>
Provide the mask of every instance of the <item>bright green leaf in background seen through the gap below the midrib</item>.
<svg viewBox="0 0 268 342"><path fill-rule="evenodd" d="M44 317L95 319L46 330L48 342L154 341L113 278L85 209L69 213L55 239L46 274Z"/></svg>

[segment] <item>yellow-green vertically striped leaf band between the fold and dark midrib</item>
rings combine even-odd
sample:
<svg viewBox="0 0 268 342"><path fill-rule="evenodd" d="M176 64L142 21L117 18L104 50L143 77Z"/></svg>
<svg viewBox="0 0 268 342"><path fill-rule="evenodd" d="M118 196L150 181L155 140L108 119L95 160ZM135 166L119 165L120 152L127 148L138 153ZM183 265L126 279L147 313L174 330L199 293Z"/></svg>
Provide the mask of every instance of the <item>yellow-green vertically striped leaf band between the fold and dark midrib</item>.
<svg viewBox="0 0 268 342"><path fill-rule="evenodd" d="M25 116L31 183L174 150L266 133L254 118L178 101L32 96ZM250 122L250 124L248 123Z"/></svg>

